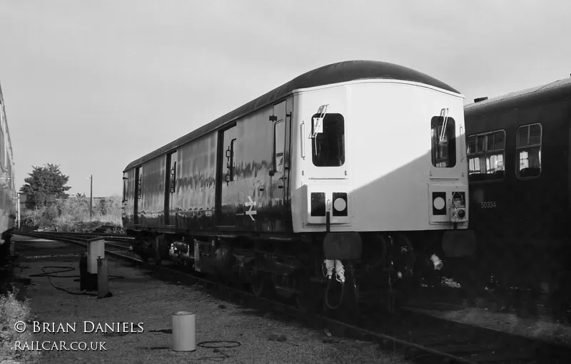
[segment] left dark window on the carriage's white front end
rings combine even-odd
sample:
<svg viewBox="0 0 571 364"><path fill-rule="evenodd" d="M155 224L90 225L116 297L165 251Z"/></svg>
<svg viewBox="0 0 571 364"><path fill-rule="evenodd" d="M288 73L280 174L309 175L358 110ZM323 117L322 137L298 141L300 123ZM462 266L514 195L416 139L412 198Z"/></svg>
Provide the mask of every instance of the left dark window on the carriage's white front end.
<svg viewBox="0 0 571 364"><path fill-rule="evenodd" d="M313 118L319 116L319 114L315 114ZM345 163L345 120L343 115L325 114L323 132L318 132L312 138L311 150L313 165L317 167L340 167Z"/></svg>

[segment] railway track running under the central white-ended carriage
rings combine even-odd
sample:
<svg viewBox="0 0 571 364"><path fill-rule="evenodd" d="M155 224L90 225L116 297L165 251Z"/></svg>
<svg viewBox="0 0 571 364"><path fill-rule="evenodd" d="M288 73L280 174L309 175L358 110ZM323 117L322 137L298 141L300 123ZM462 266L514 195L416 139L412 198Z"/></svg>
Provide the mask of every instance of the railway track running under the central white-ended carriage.
<svg viewBox="0 0 571 364"><path fill-rule="evenodd" d="M145 265L168 279L199 283L228 293L242 304L256 306L305 321L314 327L327 328L335 336L348 336L378 343L380 348L396 350L410 363L570 363L571 348L508 333L476 328L446 321L422 313L400 312L394 316L366 312L356 321L334 319L302 312L293 305L272 298L257 298L243 287L191 274L176 264L165 262L149 266L130 251L132 239L116 234L69 234L52 232L19 233L41 239L66 241L87 246L96 238L106 240L106 254L131 263ZM351 321L351 322L348 322ZM334 340L331 338L331 340Z"/></svg>

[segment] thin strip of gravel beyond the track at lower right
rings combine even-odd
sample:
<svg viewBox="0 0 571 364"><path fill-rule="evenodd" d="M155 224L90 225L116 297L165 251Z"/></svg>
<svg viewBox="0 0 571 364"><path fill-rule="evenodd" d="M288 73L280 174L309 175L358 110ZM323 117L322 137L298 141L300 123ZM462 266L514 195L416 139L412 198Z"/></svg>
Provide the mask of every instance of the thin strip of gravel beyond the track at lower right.
<svg viewBox="0 0 571 364"><path fill-rule="evenodd" d="M490 312L485 308L465 308L456 311L437 311L412 308L411 311L426 313L438 318L468 323L473 326L504 331L514 335L525 336L571 345L571 327L538 318L522 318L515 313Z"/></svg>

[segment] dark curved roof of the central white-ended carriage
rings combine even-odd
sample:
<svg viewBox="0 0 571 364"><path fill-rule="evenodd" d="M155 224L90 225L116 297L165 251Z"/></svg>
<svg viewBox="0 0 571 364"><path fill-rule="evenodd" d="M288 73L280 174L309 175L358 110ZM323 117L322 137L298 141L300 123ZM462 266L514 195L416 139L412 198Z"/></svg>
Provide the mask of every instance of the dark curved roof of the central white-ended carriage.
<svg viewBox="0 0 571 364"><path fill-rule="evenodd" d="M285 96L300 88L312 88L321 85L329 85L333 83L342 83L352 80L365 80L365 79L393 79L393 80L408 80L418 83L425 83L427 85L432 85L437 88L442 88L443 90L448 90L453 93L458 93L457 90L451 88L449 85L437 80L433 77L420 73L413 69L399 66L393 63L380 62L380 61L345 61L339 63L332 63L328 66L323 66L320 68L315 68L313 71L303 73L303 75L290 80L288 83L284 83L278 88L274 88L270 92L261 95L259 98L251 100L249 103L242 105L236 110L221 116L220 118L213 120L211 123L203 125L201 128L193 130L183 137L179 137L177 140L164 145L163 147L148 153L147 155L138 158L131 162L125 170L129 170L136 165L140 165L143 162L153 159L158 155L161 155L169 150L173 150L191 140L201 137L208 132L212 132L220 128L226 123L231 123L231 121L241 118L243 115L252 113L255 110L265 107L271 103L274 103Z"/></svg>

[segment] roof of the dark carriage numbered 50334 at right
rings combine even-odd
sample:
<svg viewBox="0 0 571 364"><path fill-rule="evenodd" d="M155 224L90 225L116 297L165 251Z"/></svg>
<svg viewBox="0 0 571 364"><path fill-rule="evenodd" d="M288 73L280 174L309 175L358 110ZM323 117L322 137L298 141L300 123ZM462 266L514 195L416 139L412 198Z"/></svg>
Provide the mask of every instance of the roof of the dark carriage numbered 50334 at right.
<svg viewBox="0 0 571 364"><path fill-rule="evenodd" d="M535 105L555 103L571 98L571 78L526 88L505 95L489 98L464 106L465 119L485 118L489 115L506 113L510 110L530 108Z"/></svg>

